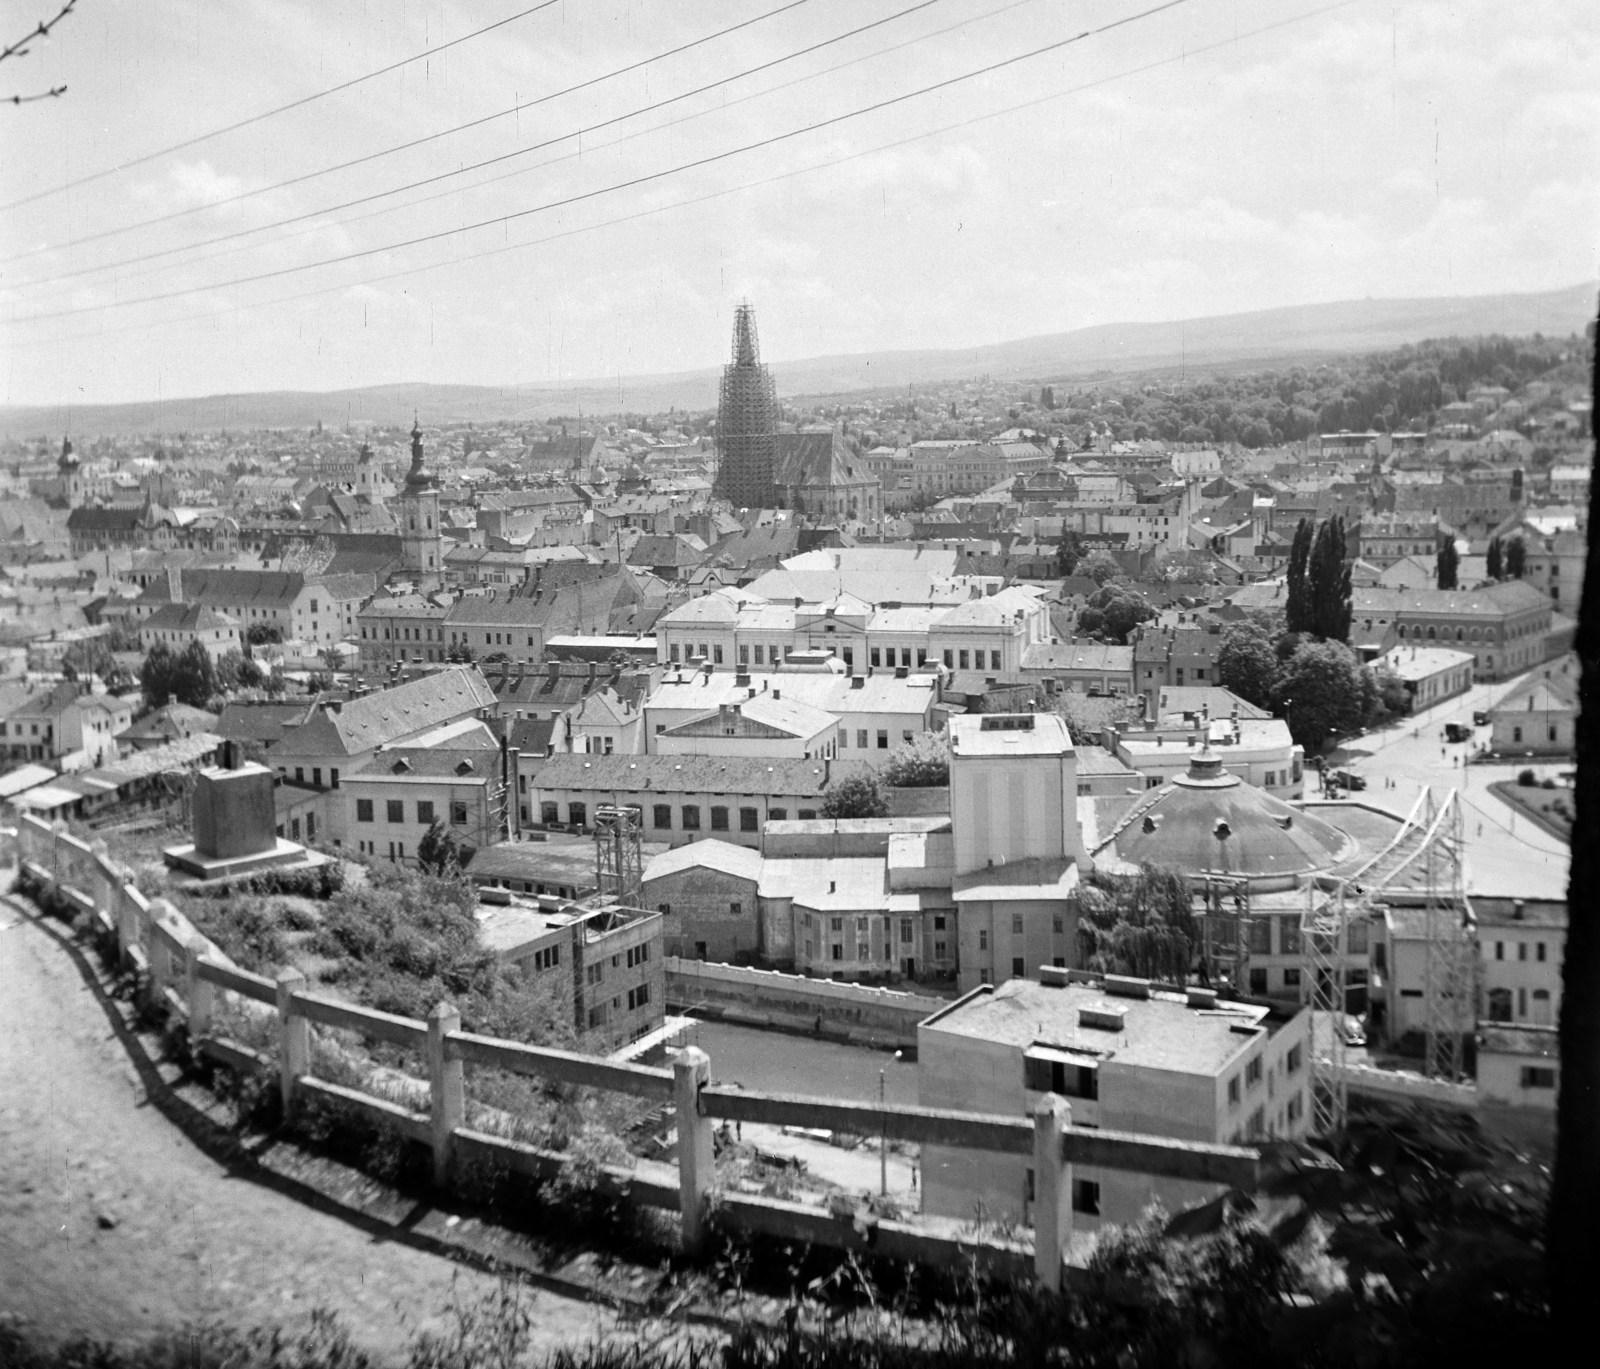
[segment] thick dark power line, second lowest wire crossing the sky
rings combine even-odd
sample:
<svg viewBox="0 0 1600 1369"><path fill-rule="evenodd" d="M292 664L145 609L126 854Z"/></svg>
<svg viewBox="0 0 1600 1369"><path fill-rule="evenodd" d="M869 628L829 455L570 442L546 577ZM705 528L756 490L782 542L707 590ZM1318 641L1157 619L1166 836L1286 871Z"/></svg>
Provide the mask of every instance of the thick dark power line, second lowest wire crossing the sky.
<svg viewBox="0 0 1600 1369"><path fill-rule="evenodd" d="M402 248L421 246L422 243L438 241L440 238L451 238L451 237L456 237L458 233L477 232L478 229L504 227L504 226L512 224L512 222L515 222L518 219L526 219L526 218L530 218L533 214L544 214L544 213L549 213L550 210L562 210L562 208L566 208L570 205L581 205L581 203L584 203L587 200L595 200L595 198L598 198L602 195L616 194L618 190L632 190L637 186L648 186L648 184L653 184L656 181L664 181L669 176L678 176L678 174L682 174L685 171L694 171L694 170L699 170L701 166L710 166L710 165L714 165L717 162L726 162L730 157L739 157L739 155L742 155L746 152L758 152L763 147L774 147L779 142L789 142L790 139L803 138L808 133L818 133L819 130L832 128L832 126L835 126L838 123L848 123L853 118L862 118L864 115L869 115L869 114L878 114L880 110L891 109L891 107L894 107L898 104L906 104L907 101L912 101L912 99L920 99L922 96L933 94L934 91L949 90L950 86L962 85L963 82L976 80L978 77L984 77L984 75L992 75L994 72L1005 70L1006 67L1014 67L1019 62L1026 62L1026 61L1030 61L1034 58L1042 58L1046 53L1061 51L1062 48L1069 48L1069 46L1072 46L1075 43L1082 43L1082 42L1085 42L1088 38L1099 37L1101 34L1107 34L1107 32L1110 32L1114 29L1122 29L1122 27L1126 27L1130 24L1136 24L1141 19L1154 18L1155 14L1162 14L1166 10L1176 10L1178 6L1187 5L1187 3L1189 3L1189 0L1163 0L1163 3L1160 3L1160 5L1152 5L1147 10L1139 10L1138 13L1126 14L1126 16L1123 16L1120 19L1112 19L1110 22L1101 24L1096 29L1085 29L1083 32L1074 34L1072 37L1058 38L1053 43L1045 43L1043 46L1030 48L1029 51L1018 53L1016 56L1011 56L1011 58L1002 58L997 62L989 62L989 64L986 64L982 67L976 67L974 70L963 72L962 75L946 77L944 80L933 82L931 85L920 86L918 90L906 91L904 94L890 96L888 99L880 99L880 101L877 101L874 104L867 104L867 106L862 106L859 109L848 110L845 114L835 114L835 115L829 115L827 118L819 118L814 123L808 123L808 125L803 125L800 128L792 128L787 133L774 133L774 134L771 134L768 138L760 138L755 142L746 142L746 144L742 144L739 147L731 147L731 149L726 149L723 152L714 152L714 154L707 154L706 157L696 157L696 158L693 158L690 162L682 162L677 166L669 166L669 168L664 168L661 171L648 171L648 173L645 173L642 176L634 176L634 178L630 178L627 181L618 181L613 186L602 186L597 190L584 190L584 192L576 194L576 195L568 195L568 197L565 197L562 200L550 200L550 202L547 202L544 205L534 205L531 208L517 210L517 211L509 213L509 214L496 214L496 216L493 216L490 219L478 219L477 222L462 224L461 227L456 227L456 229L440 229L440 230L432 232L432 233L419 233L419 235L416 235L413 238L405 238L405 240L397 241L397 243L384 243L384 245L374 246L374 248L362 248L358 251L342 253L342 254L334 256L334 257L323 257L322 261L301 262L298 265L277 267L274 270L254 272L253 275L234 277L232 280L211 281L208 285L184 286L181 289L162 291L158 294L142 294L142 296L136 296L133 299L117 299L117 301L110 301L107 304L86 304L86 305L78 305L75 309L56 309L56 310L50 310L46 313L35 313L35 315L30 315L30 317L24 318L24 320L18 320L18 321L37 323L37 321L42 321L42 320L46 320L46 318L67 318L67 317L72 317L72 315L77 315L77 313L94 313L98 310L104 310L104 309L131 309L131 307L134 307L138 304L157 304L157 302L165 301L165 299L179 299L179 297L182 297L186 294L200 294L202 291L206 291L206 289L226 289L227 286L232 286L232 285L253 285L258 280L275 280L278 277L298 275L299 272L315 270L315 269L325 267L325 265L339 265L341 262L347 262L347 261L360 261L363 257L379 256L382 253L400 251Z"/></svg>

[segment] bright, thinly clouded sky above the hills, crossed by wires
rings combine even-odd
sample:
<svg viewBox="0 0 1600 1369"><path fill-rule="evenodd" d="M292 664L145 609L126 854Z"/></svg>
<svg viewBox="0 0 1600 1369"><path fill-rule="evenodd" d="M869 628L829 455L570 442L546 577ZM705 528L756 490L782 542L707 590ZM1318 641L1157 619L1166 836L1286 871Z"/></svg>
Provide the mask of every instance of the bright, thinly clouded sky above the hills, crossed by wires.
<svg viewBox="0 0 1600 1369"><path fill-rule="evenodd" d="M0 0L0 40L61 3ZM0 62L69 86L0 107L0 202L37 197L0 211L0 401L693 369L746 296L782 361L1597 273L1584 0L557 0L61 189L531 3L78 0Z"/></svg>

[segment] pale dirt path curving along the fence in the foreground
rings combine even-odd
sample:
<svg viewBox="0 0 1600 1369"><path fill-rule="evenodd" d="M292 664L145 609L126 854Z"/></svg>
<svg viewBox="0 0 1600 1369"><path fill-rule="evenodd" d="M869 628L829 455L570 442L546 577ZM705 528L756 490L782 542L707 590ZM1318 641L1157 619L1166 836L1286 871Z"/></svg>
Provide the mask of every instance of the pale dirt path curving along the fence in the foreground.
<svg viewBox="0 0 1600 1369"><path fill-rule="evenodd" d="M230 1175L150 1105L83 964L0 900L0 1311L51 1339L130 1343L197 1319L296 1324L325 1307L394 1356L453 1284L493 1289ZM611 1323L592 1303L526 1295L550 1348Z"/></svg>

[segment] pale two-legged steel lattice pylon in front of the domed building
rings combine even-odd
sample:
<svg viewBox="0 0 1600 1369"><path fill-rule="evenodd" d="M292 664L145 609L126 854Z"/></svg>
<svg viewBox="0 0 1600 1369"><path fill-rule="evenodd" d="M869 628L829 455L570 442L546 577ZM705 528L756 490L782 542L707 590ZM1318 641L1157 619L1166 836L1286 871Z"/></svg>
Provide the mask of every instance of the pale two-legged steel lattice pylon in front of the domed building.
<svg viewBox="0 0 1600 1369"><path fill-rule="evenodd" d="M1301 995L1312 1009L1312 1128L1326 1134L1346 1118L1346 1014L1350 929L1403 896L1424 908L1424 1072L1456 1083L1475 1020L1477 945L1466 894L1459 795L1443 803L1427 787L1376 856L1352 875L1315 881L1301 915ZM1363 939L1362 945L1366 942ZM1392 969L1392 966L1390 966Z"/></svg>

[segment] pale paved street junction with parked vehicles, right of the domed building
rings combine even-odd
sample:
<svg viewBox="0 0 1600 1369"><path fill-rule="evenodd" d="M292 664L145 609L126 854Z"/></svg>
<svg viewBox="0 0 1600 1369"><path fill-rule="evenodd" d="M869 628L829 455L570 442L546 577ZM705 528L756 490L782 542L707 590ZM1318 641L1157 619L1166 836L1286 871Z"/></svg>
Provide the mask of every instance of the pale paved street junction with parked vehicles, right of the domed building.
<svg viewBox="0 0 1600 1369"><path fill-rule="evenodd" d="M1339 748L1338 766L1352 769L1366 780L1368 787L1360 798L1397 812L1411 808L1424 784L1440 793L1459 790L1466 808L1469 889L1478 894L1562 899L1566 897L1570 864L1566 843L1517 817L1488 792L1491 784L1514 779L1523 766L1462 764L1472 750L1488 740L1486 728L1478 729L1474 744L1451 745L1443 740L1445 723L1470 723L1474 712L1488 708L1522 678L1525 677L1474 684L1467 694L1446 699L1395 726L1352 737ZM1541 779L1573 768L1571 761L1528 764ZM1386 787L1386 780L1394 787Z"/></svg>

